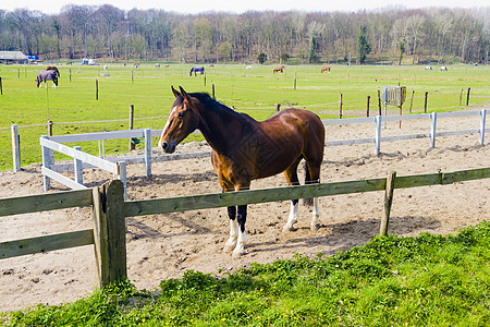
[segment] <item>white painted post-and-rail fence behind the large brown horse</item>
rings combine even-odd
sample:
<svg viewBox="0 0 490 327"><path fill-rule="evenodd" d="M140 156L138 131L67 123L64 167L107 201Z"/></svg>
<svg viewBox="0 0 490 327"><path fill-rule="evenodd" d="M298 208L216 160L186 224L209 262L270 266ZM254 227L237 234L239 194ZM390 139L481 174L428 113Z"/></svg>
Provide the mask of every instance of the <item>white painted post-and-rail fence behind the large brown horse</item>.
<svg viewBox="0 0 490 327"><path fill-rule="evenodd" d="M380 153L381 142L390 141L402 141L402 140L414 140L414 138L430 138L430 146L436 146L437 136L452 136L452 135L464 135L464 134L479 134L479 142L481 145L485 144L485 132L489 131L486 129L486 109L480 111L458 111L458 112L432 112L432 113L421 113L421 114L407 114L407 116L385 116L385 117L373 117L373 118L347 118L347 119L329 119L322 120L326 125L335 124L352 124L352 123L375 123L375 137L366 138L352 138L352 140L335 140L327 141L326 146L340 146L340 145L353 145L353 144L375 144L375 153L378 155ZM457 130L457 131L446 131L437 132L437 120L450 117L480 117L479 129L473 130ZM414 120L414 119L430 119L430 131L427 133L418 134L405 134L395 136L381 136L381 123L384 121L402 121L402 120ZM145 174L151 174L151 162L157 161L169 161L169 160L182 160L191 158L204 158L209 157L210 152L201 153L187 153L187 154L174 154L174 155L151 155L151 137L160 136L162 130L127 130L127 131L115 131L115 132L102 132L102 133L89 133L89 134L72 134L72 135L60 135L60 136L41 136L39 143L42 150L42 174L45 181L45 191L50 187L50 179L54 179L60 183L74 189L84 189L83 185L83 169L98 167L100 169L107 170L112 173L113 179L120 179L124 183L124 190L126 186L126 165L133 164L145 164ZM79 146L71 148L61 143L66 142L86 142L86 141L99 141L103 142L107 140L118 140L118 138L132 138L132 137L143 137L145 138L145 150L143 156L133 157L118 157L118 158L105 158L103 149L100 152L99 146L99 157L83 153ZM16 125L12 125L12 149L14 157L14 170L19 171L20 167L20 148L19 148L19 134ZM73 157L73 164L54 164L53 152L60 152L64 155ZM73 170L75 172L75 179L71 180L60 172Z"/></svg>

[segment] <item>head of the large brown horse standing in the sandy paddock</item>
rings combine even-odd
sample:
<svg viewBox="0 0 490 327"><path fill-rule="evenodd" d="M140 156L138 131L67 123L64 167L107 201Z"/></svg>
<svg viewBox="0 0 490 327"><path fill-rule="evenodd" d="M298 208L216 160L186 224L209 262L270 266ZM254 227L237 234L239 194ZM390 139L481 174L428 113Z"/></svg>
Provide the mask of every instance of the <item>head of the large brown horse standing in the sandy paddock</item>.
<svg viewBox="0 0 490 327"><path fill-rule="evenodd" d="M192 98L182 87L180 89L181 92L177 92L172 86L176 99L158 142L158 146L168 154L172 154L175 146L194 132L199 123L199 117L195 109L196 99Z"/></svg>

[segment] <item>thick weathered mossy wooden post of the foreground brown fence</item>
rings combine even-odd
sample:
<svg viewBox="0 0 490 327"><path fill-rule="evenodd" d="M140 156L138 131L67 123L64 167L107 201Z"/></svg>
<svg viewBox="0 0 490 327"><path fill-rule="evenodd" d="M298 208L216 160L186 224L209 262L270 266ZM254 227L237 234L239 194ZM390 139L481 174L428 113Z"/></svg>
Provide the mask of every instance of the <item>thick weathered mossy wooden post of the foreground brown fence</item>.
<svg viewBox="0 0 490 327"><path fill-rule="evenodd" d="M124 189L119 180L94 187L94 241L100 288L127 276Z"/></svg>

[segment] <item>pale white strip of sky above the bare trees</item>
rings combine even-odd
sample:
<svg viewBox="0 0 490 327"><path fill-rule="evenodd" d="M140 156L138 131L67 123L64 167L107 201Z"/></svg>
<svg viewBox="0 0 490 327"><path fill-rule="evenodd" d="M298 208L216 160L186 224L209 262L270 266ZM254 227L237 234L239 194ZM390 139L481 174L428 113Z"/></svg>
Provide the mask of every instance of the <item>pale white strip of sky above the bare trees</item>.
<svg viewBox="0 0 490 327"><path fill-rule="evenodd" d="M343 11L356 12L377 10L387 7L405 9L445 7L445 8L481 8L490 7L490 0L0 0L0 9L13 11L17 8L37 10L47 14L60 13L66 4L101 5L112 4L124 11L132 9L161 9L179 13L200 13L208 11L243 13L245 11Z"/></svg>

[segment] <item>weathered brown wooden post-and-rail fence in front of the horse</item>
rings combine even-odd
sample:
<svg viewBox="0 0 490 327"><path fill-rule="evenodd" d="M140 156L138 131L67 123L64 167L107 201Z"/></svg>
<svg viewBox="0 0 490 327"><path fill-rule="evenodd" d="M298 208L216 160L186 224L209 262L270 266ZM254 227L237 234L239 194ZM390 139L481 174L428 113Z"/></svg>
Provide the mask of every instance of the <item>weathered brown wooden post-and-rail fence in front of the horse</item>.
<svg viewBox="0 0 490 327"><path fill-rule="evenodd" d="M487 178L490 178L490 168L406 177L396 177L393 172L388 178L379 179L130 202L124 202L122 181L112 180L91 190L0 199L0 217L81 206L93 206L94 213L94 229L2 242L0 259L94 244L96 271L99 286L103 287L126 276L126 217L384 190L380 233L387 234L394 189L444 185Z"/></svg>

